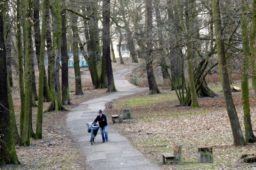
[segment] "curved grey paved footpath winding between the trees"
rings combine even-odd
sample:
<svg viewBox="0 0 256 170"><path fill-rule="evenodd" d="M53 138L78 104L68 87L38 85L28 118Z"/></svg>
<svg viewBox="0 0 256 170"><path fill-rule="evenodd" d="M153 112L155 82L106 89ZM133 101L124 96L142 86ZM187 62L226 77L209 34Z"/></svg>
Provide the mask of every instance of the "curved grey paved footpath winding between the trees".
<svg viewBox="0 0 256 170"><path fill-rule="evenodd" d="M138 88L124 80L128 69L114 73L114 83L118 92L95 98L75 107L66 118L66 130L74 136L79 144L81 154L86 157L85 168L96 170L158 170L159 165L147 160L142 153L134 148L126 137L121 136L112 128L113 122L108 120L108 142L102 143L100 130L96 141L91 145L90 133L87 132L87 122L92 122L98 115L98 110L105 109L105 104L113 99L145 92L148 88Z"/></svg>

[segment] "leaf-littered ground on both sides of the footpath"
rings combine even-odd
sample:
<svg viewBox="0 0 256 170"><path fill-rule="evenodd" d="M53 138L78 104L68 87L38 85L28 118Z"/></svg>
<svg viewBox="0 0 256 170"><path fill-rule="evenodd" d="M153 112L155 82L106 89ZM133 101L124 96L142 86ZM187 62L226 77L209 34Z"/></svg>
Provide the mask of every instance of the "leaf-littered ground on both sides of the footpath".
<svg viewBox="0 0 256 170"><path fill-rule="evenodd" d="M113 63L115 70L130 66ZM106 89L92 89L88 68L81 68L83 71L82 88L84 95L76 96L74 69L69 68L69 90L72 105L65 106L71 110L79 103L90 99L108 95ZM14 99L17 126L19 127L20 97L17 78L12 95ZM173 92L168 88L160 88L161 95L170 95ZM163 165L163 169L256 169L255 163L243 163L240 159L242 154L256 152L256 144L249 144L243 147L233 145L232 133L227 113L224 109L222 93L216 98L200 98L200 108L176 107L178 100L172 102L159 102L144 107L127 108L132 112L133 119L125 120L122 124L114 126L120 133L125 135L133 145L146 157L156 163L161 163L161 152L172 148L172 142L179 142L183 145L181 165ZM254 93L251 92L251 96ZM134 94L118 99L118 102L129 98L149 98L148 93ZM237 108L240 125L244 131L241 92L233 93L233 99ZM105 109L108 117L115 113L112 101ZM254 106L255 99L251 97L251 104ZM44 103L44 110L50 103ZM126 109L123 107L123 109ZM33 108L33 129L35 130L37 108ZM75 139L63 130L68 111L50 112L43 114L43 139L31 139L31 145L27 147L16 146L16 152L20 165L6 165L1 169L85 169L85 158L80 156ZM182 113L180 115L180 113ZM152 119L152 120L150 120ZM256 133L256 109L251 108L251 119L254 134ZM110 121L109 121L110 122ZM142 128L143 127L143 128ZM138 135L133 135L134 133ZM211 146L214 148L215 163L209 167L196 167L197 148ZM194 168L193 168L194 167Z"/></svg>

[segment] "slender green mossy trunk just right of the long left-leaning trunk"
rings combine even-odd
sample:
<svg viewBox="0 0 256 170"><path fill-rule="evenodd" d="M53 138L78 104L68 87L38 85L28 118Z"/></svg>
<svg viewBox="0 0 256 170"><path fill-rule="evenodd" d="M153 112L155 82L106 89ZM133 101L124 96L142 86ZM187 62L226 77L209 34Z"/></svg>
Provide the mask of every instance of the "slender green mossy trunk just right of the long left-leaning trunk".
<svg viewBox="0 0 256 170"><path fill-rule="evenodd" d="M248 67L249 67L249 57L250 57L250 46L248 38L248 24L247 24L247 13L248 13L248 3L247 1L242 1L244 4L241 19L242 28L242 40L243 40L243 66L242 66L242 102L244 110L244 125L245 125L245 142L253 143L256 142L256 137L253 134L251 125L251 113L250 113L250 103L249 103L249 88L248 88Z"/></svg>

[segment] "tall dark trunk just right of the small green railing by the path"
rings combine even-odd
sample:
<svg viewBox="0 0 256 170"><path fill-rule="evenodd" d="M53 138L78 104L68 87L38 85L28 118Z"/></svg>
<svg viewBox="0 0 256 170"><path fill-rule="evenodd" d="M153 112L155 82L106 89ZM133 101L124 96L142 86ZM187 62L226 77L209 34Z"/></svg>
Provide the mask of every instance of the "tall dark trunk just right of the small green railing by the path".
<svg viewBox="0 0 256 170"><path fill-rule="evenodd" d="M146 0L146 7L147 7L147 57L146 57L146 70L148 76L148 86L149 86L149 93L150 94L157 94L160 93L160 90L157 87L157 82L154 76L154 69L153 69L153 60L154 57L152 55L153 50L153 42L152 42L152 31L153 31L153 18L152 18L152 0Z"/></svg>

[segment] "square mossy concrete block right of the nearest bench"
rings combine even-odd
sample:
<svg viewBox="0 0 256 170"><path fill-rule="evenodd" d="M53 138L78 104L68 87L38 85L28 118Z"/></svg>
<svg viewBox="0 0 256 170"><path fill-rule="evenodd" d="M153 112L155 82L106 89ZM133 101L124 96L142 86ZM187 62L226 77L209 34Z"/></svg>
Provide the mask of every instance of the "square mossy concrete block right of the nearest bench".
<svg viewBox="0 0 256 170"><path fill-rule="evenodd" d="M213 163L212 148L198 148L198 163Z"/></svg>

